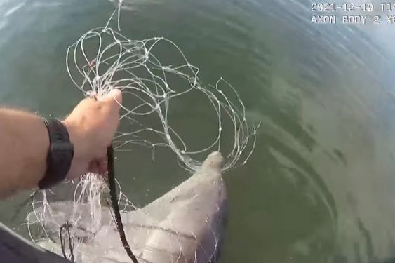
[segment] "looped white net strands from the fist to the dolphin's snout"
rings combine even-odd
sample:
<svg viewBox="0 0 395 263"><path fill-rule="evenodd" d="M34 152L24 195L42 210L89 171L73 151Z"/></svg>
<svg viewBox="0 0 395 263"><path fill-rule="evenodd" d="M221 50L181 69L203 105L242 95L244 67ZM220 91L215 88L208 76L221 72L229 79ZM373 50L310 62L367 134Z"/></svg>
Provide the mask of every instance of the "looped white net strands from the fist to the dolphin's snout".
<svg viewBox="0 0 395 263"><path fill-rule="evenodd" d="M106 48L102 48L102 35L111 36L113 38L113 42L107 45ZM86 53L83 51L83 45L84 41L91 39L93 36L98 37L99 48L95 58L89 59ZM241 101L239 95L236 93L236 90L224 79L217 81L215 86L201 86L197 77L199 71L196 69L196 67L190 65L189 62L187 62L187 59L183 54L182 58L185 60L184 66L170 68L170 66L161 65L160 62L156 60L155 56L150 53L150 50L152 50L154 46L163 42L170 43L182 54L182 51L178 48L178 46L175 45L175 43L165 38L155 37L144 41L131 41L130 39L126 39L126 37L122 36L119 32L114 32L114 30L110 27L94 29L84 34L81 39L79 39L79 41L74 43L67 50L67 62L69 62L69 56L73 54L74 66L79 69L80 67L79 63L76 61L76 54L77 50L81 48L83 58L86 62L86 65L83 65L81 69L79 69L79 74L81 74L83 77L83 82L79 84L74 80L71 70L69 69L71 65L68 63L67 69L76 86L82 90L85 95L89 95L92 92L98 95L105 95L109 93L109 90L118 88L124 94L129 94L137 98L140 101L140 104L133 107L133 109L128 109L123 105L121 106L125 111L125 113L121 116L121 120L130 119L131 121L138 123L138 121L133 119L133 116L148 116L150 114L157 114L161 121L163 130L157 130L156 128L143 126L141 123L139 123L140 125L138 126L138 130L130 131L130 133L122 133L115 138L116 140L121 140L122 137L133 135L135 139L124 140L122 146L125 144L147 144L152 147L170 147L170 149L175 152L180 161L185 165L185 168L187 168L187 170L194 171L196 170L196 163L199 162L191 159L192 154L201 154L204 152L209 153L210 151L214 150L220 151L222 118L225 114L230 119L230 121L234 123L234 144L232 151L227 155L226 162L222 170L225 172L231 168L235 168L238 163L241 165L245 164L250 157L250 153L253 152L255 147L256 130L259 128L259 126L253 126L251 130L250 125L248 125L246 120L246 107ZM119 49L119 53L103 60L102 58L105 56L108 48L114 46L117 46L116 48ZM129 55L130 52L133 52L132 55ZM142 58L133 54L140 54ZM132 60L133 58L134 60ZM109 60L111 59L114 59L114 61L112 61L109 65ZM103 74L100 74L101 65L106 65L106 68L108 68ZM138 67L147 69L147 72L151 74L152 79L139 78L133 72L131 72L131 70ZM163 76L154 72L152 67L155 69L161 69ZM190 69L192 76L189 76L183 72L179 72L178 69L181 67L187 67ZM129 76L123 79L114 79L114 75L118 72L128 74ZM172 90L166 81L166 73L171 73L173 75L175 74L182 79L187 79L191 85L182 91ZM236 103L239 105L231 102L225 93L220 90L219 86L222 82L226 83L229 90L231 90L234 95L236 95ZM86 90L87 83L89 90ZM147 86L147 83L153 83L154 88ZM185 95L191 90L199 90L199 92L203 93L203 95L206 95L218 116L217 137L210 145L196 151L188 151L185 142L182 140L182 137L178 135L178 133L175 132L175 130L173 130L173 128L171 128L168 123L168 104L170 103L170 100L174 99L175 97ZM147 96L149 100L147 100L146 97L136 94L136 92ZM222 102L220 99L224 100L225 102ZM238 106L240 106L241 109ZM163 142L151 144L147 140L141 139L139 135L146 131L160 135L163 138ZM253 140L253 145L250 147L250 149L247 149L248 143L251 139ZM249 151L249 154L245 159L241 159L242 154L246 150Z"/></svg>

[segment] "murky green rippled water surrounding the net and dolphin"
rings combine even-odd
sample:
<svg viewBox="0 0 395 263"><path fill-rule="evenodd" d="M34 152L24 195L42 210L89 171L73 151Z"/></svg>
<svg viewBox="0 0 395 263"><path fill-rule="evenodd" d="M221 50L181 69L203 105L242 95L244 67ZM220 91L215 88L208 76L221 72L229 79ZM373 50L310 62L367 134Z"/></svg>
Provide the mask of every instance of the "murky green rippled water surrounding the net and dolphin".
<svg viewBox="0 0 395 263"><path fill-rule="evenodd" d="M304 0L124 2L123 34L171 39L203 81L227 79L248 118L262 122L250 161L224 175L230 214L220 262L395 257L391 27L314 26ZM82 96L67 76L67 46L113 9L104 0L0 1L1 104L65 116ZM206 123L195 116L187 126ZM136 203L187 177L161 152L154 162L135 151L118 156ZM27 211L13 214L23 197L0 203L0 220L22 234Z"/></svg>

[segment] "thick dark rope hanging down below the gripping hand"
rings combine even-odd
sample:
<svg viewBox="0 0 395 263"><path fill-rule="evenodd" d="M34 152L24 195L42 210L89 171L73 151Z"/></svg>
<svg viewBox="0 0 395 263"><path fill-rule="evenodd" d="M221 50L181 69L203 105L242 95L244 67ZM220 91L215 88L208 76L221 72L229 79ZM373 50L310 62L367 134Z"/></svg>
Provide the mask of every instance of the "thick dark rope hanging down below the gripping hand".
<svg viewBox="0 0 395 263"><path fill-rule="evenodd" d="M114 210L116 228L118 229L119 237L121 238L121 242L126 253L130 257L130 259L132 259L133 263L138 263L138 260L136 259L135 255L133 255L133 252L130 249L130 245L126 240L126 234L123 229L121 213L119 212L118 194L116 194L115 172L114 172L114 147L112 147L112 145L107 147L107 161L108 161L107 169L108 169L109 195L112 201L112 209Z"/></svg>

